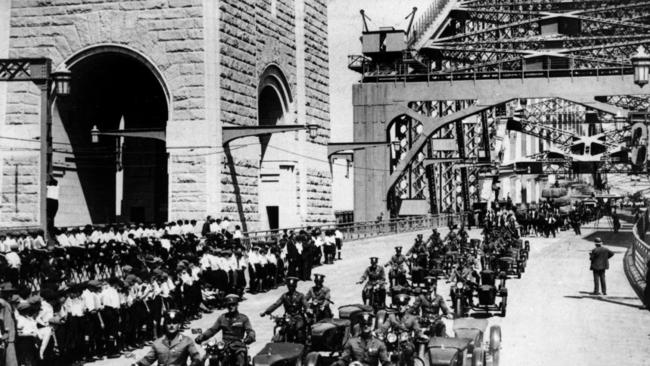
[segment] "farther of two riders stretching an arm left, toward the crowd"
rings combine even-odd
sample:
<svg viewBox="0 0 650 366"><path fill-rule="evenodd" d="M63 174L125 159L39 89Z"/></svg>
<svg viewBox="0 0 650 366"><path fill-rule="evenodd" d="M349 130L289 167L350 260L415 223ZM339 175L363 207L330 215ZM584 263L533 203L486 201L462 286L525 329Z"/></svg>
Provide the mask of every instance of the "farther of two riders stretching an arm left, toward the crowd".
<svg viewBox="0 0 650 366"><path fill-rule="evenodd" d="M291 329L287 330L288 335L295 334L295 342L302 343L305 340L305 318L304 314L309 308L305 295L296 291L298 287L298 278L287 277L287 292L282 294L276 302L264 310L260 316L264 317L279 308L280 305L284 307L285 314L291 316L293 324L290 324Z"/></svg>

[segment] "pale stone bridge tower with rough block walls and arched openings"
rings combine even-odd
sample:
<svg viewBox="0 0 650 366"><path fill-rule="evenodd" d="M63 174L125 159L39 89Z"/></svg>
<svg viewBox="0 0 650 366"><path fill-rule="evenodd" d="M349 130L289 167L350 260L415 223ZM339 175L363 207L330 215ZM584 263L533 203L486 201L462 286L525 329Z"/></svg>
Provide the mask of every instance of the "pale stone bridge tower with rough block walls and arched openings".
<svg viewBox="0 0 650 366"><path fill-rule="evenodd" d="M57 226L102 223L109 217L154 221L154 217L212 215L228 216L244 224L245 230L256 230L333 220L326 149L330 128L326 0L14 0L0 6L4 6L0 24L8 24L8 32L0 32L5 38L0 41L0 57L49 57L55 67L73 72L74 88L76 71L90 73L93 60L104 53L120 54L128 62L143 64L159 84L151 90L164 95L158 105L166 106L161 112L166 121L160 124L166 132L166 189L148 185L143 171L158 168L144 163L132 168L123 164L120 174L127 178L116 173L119 189L104 192L105 182L92 183L93 174L86 174L80 163L84 160L80 154L90 156L87 151L92 148L83 145L90 126L84 116L104 117L97 117L92 106L66 109L63 102L54 104L53 174L61 203ZM113 67L111 60L97 65ZM128 80L123 83L118 88L132 87ZM129 108L122 116L127 129L139 123L129 116L140 107ZM35 86L0 85L0 136L6 137L0 150L0 226L39 225L39 111ZM119 123L116 116L111 125ZM223 145L222 127L258 124L320 127L316 138L297 131ZM133 155L154 151L130 141L125 144ZM92 165L92 156L85 158ZM112 165L106 169L112 170ZM138 174L144 179L134 178ZM138 192L165 192L147 202L126 202L133 196L127 191L136 185L141 186ZM97 195L108 198L93 201L91 196ZM121 198L121 205L113 196ZM163 203L152 208L149 201ZM88 208L92 205L115 205L115 213L121 215L97 214ZM152 210L161 209L165 214L155 216Z"/></svg>

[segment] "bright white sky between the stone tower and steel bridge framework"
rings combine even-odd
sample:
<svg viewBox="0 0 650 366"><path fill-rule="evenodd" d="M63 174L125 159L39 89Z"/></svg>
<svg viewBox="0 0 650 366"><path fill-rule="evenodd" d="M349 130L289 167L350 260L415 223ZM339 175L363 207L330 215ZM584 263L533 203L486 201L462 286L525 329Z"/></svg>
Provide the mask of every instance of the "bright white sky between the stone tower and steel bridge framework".
<svg viewBox="0 0 650 366"><path fill-rule="evenodd" d="M418 8L415 20L424 14L434 0L330 0L329 54L330 54L330 119L332 142L352 141L352 85L359 74L348 70L348 55L361 54L360 9L371 19L368 28L383 26L406 29L404 18L414 6Z"/></svg>

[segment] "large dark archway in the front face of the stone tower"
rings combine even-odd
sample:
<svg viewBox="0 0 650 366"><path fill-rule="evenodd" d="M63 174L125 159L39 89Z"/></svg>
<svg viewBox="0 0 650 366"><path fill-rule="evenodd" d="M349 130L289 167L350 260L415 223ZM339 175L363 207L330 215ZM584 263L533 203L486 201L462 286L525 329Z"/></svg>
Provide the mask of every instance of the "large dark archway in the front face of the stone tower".
<svg viewBox="0 0 650 366"><path fill-rule="evenodd" d="M132 51L101 47L68 62L72 94L57 102L53 134L61 206L55 224L162 222L167 219L164 141L100 136L102 131L164 129L168 97L153 67ZM58 149L60 147L60 149ZM65 151L65 152L62 152Z"/></svg>

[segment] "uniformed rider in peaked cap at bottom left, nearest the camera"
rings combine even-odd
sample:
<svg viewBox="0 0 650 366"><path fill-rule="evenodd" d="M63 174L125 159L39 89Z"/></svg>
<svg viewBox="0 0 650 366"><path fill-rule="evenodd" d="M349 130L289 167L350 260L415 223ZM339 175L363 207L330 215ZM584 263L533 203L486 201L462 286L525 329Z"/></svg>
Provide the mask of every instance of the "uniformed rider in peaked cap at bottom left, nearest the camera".
<svg viewBox="0 0 650 366"><path fill-rule="evenodd" d="M183 314L178 310L169 310L163 319L165 335L153 342L149 353L133 365L149 366L158 361L159 365L185 366L188 357L192 359L191 365L201 365L203 357L199 354L196 343L180 333Z"/></svg>

